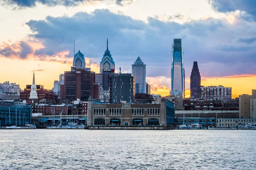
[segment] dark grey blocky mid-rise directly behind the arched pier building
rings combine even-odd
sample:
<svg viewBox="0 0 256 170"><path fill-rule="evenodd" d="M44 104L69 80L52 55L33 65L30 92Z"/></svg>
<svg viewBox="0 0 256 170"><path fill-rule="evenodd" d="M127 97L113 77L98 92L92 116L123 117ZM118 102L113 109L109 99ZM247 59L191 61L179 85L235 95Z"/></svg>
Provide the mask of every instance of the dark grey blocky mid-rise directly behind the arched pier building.
<svg viewBox="0 0 256 170"><path fill-rule="evenodd" d="M132 74L114 74L110 78L110 102L134 102L135 78Z"/></svg>

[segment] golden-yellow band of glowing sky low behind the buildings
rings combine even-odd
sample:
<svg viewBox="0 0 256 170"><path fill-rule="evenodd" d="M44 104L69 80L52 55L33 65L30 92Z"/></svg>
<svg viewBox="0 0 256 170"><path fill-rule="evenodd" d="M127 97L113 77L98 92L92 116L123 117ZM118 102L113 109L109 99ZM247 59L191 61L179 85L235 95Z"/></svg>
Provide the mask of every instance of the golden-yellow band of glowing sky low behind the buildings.
<svg viewBox="0 0 256 170"><path fill-rule="evenodd" d="M65 54L60 54L65 55ZM10 59L0 57L0 82L5 81L16 82L20 84L20 88L24 89L26 85L32 83L32 71L35 72L36 84L44 85L47 89L52 89L53 82L59 79L60 74L64 71L70 71L71 64L63 64L64 58L58 58L54 61L38 61L32 59ZM72 61L72 58L69 62ZM86 60L86 67L90 67L91 71L99 73L99 65L90 64L88 58ZM60 61L60 62L59 62ZM168 96L170 88L167 86L171 82L170 78L166 77L147 77L147 82L151 85L151 94L160 94L161 96ZM189 80L187 80L189 82ZM228 77L202 77L201 85L223 85L225 87L232 87L232 96L239 94L251 94L252 89L256 89L256 75L234 75ZM186 89L186 97L189 97L190 90Z"/></svg>

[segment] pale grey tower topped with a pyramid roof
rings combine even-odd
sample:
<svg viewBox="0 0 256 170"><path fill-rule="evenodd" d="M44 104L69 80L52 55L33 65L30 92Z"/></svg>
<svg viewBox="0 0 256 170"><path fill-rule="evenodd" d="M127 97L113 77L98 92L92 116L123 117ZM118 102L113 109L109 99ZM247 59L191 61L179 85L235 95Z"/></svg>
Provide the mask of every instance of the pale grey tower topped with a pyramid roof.
<svg viewBox="0 0 256 170"><path fill-rule="evenodd" d="M140 57L132 65L132 75L135 77L135 94L146 93L146 65Z"/></svg>

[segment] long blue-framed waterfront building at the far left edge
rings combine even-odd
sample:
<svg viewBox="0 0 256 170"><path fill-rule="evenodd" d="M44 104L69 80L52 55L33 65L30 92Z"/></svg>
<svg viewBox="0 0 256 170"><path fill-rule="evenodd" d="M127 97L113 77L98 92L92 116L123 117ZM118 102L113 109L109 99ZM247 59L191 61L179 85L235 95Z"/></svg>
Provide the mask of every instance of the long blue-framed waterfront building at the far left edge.
<svg viewBox="0 0 256 170"><path fill-rule="evenodd" d="M31 123L31 106L21 102L0 101L0 126Z"/></svg>

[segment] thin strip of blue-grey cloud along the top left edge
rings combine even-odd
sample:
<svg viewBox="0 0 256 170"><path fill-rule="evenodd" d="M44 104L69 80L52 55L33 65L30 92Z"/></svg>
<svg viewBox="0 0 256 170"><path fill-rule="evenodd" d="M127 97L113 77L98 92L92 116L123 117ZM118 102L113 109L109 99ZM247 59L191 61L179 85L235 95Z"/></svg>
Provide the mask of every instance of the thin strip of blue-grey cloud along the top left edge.
<svg viewBox="0 0 256 170"><path fill-rule="evenodd" d="M102 0L4 0L2 5L12 6L14 8L32 8L36 3L46 6L78 6L84 2L102 1ZM116 0L117 5L122 5L123 1L132 2L133 0Z"/></svg>

